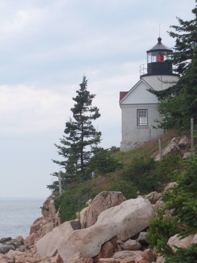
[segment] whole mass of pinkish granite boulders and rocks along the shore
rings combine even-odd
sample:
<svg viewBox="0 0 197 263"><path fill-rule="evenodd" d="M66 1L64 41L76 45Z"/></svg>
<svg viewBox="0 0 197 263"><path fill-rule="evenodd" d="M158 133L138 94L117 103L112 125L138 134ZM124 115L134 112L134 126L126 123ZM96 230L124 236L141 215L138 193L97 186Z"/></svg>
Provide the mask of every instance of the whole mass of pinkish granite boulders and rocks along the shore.
<svg viewBox="0 0 197 263"><path fill-rule="evenodd" d="M163 151L177 152L188 145L187 138L172 139ZM185 154L186 158L189 154ZM158 156L156 156L158 158ZM164 191L172 187L170 183ZM121 192L103 191L73 221L61 224L54 196L43 203L42 217L36 219L26 240L0 240L1 263L163 263L154 250L147 248L148 221L157 216L164 204L161 193L126 200ZM166 214L171 211L165 211ZM188 247L197 235L168 240L170 247ZM7 254L6 254L7 253Z"/></svg>

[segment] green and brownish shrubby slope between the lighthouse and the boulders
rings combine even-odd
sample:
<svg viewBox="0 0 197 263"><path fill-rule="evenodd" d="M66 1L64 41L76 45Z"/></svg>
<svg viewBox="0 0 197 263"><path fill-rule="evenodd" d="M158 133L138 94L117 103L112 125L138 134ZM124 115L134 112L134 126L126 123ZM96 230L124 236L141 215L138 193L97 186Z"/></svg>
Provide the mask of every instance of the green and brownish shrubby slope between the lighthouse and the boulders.
<svg viewBox="0 0 197 263"><path fill-rule="evenodd" d="M171 130L161 137L163 149L174 136L176 131ZM141 194L162 191L172 180L174 171L181 171L182 154L167 154L162 160L155 161L154 156L158 153L158 140L129 152L113 150L113 157L122 168L111 173L97 173L95 178L86 182L70 184L55 198L62 222L75 219L76 212L86 207L86 202L101 191L121 191L127 199L136 198L137 191Z"/></svg>

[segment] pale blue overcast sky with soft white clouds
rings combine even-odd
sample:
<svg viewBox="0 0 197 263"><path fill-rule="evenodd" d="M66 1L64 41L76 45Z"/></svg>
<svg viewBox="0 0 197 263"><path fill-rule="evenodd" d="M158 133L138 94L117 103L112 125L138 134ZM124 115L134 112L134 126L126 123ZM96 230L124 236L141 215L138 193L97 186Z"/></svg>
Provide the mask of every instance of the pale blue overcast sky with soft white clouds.
<svg viewBox="0 0 197 263"><path fill-rule="evenodd" d="M0 0L0 197L47 197L72 97L85 74L103 148L120 147L119 91L195 0Z"/></svg>

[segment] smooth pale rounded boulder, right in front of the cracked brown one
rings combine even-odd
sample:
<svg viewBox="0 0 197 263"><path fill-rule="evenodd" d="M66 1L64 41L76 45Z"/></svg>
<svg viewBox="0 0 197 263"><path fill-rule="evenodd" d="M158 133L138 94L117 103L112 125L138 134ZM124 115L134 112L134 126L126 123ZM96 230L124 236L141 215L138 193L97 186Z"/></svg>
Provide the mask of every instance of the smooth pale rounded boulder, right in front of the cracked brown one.
<svg viewBox="0 0 197 263"><path fill-rule="evenodd" d="M117 227L118 240L125 241L148 227L148 221L155 217L153 205L148 199L130 199L122 204L103 211L97 220L98 224Z"/></svg>

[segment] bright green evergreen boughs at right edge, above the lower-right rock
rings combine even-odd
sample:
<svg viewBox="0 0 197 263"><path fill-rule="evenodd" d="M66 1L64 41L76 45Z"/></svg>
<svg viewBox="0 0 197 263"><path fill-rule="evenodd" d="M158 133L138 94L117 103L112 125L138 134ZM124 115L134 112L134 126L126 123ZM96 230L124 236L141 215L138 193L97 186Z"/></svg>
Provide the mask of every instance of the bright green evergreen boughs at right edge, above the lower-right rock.
<svg viewBox="0 0 197 263"><path fill-rule="evenodd" d="M185 171L174 176L177 185L165 191L162 200L165 202L163 210L174 208L172 216L186 226L181 233L186 236L197 233L197 155L191 154L183 164Z"/></svg>

